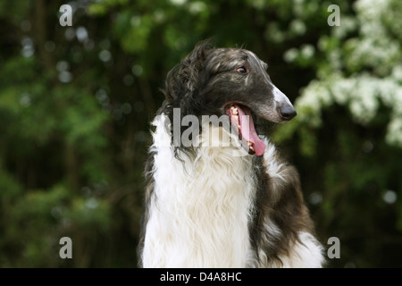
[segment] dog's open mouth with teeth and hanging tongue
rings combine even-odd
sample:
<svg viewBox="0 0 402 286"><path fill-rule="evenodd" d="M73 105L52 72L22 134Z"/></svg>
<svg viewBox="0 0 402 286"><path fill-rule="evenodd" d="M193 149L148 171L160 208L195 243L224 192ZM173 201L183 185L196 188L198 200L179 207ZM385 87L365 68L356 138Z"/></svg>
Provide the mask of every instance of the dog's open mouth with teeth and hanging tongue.
<svg viewBox="0 0 402 286"><path fill-rule="evenodd" d="M234 130L238 131L240 144L248 154L263 155L265 144L255 131L250 109L245 105L231 103L226 107L226 114L228 114Z"/></svg>

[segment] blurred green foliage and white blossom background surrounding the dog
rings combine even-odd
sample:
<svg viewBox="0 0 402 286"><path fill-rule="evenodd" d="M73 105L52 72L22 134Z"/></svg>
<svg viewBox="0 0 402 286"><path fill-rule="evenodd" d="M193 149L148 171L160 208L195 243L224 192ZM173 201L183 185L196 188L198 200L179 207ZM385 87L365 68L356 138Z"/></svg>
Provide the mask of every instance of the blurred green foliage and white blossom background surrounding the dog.
<svg viewBox="0 0 402 286"><path fill-rule="evenodd" d="M398 0L2 1L0 266L136 266L159 88L211 37L254 51L295 102L272 136L319 239L339 237L328 266L402 266L401 13Z"/></svg>

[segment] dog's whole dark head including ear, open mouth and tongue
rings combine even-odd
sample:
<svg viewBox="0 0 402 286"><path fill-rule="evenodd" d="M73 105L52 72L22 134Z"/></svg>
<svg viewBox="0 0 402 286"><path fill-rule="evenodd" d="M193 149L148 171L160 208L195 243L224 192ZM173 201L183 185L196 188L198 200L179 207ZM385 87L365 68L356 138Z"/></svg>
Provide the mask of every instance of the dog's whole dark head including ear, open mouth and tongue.
<svg viewBox="0 0 402 286"><path fill-rule="evenodd" d="M209 42L201 43L169 71L164 112L179 107L181 117L227 114L248 153L262 155L265 146L255 131L253 116L288 122L297 114L289 98L272 83L267 68L245 49L214 49Z"/></svg>

